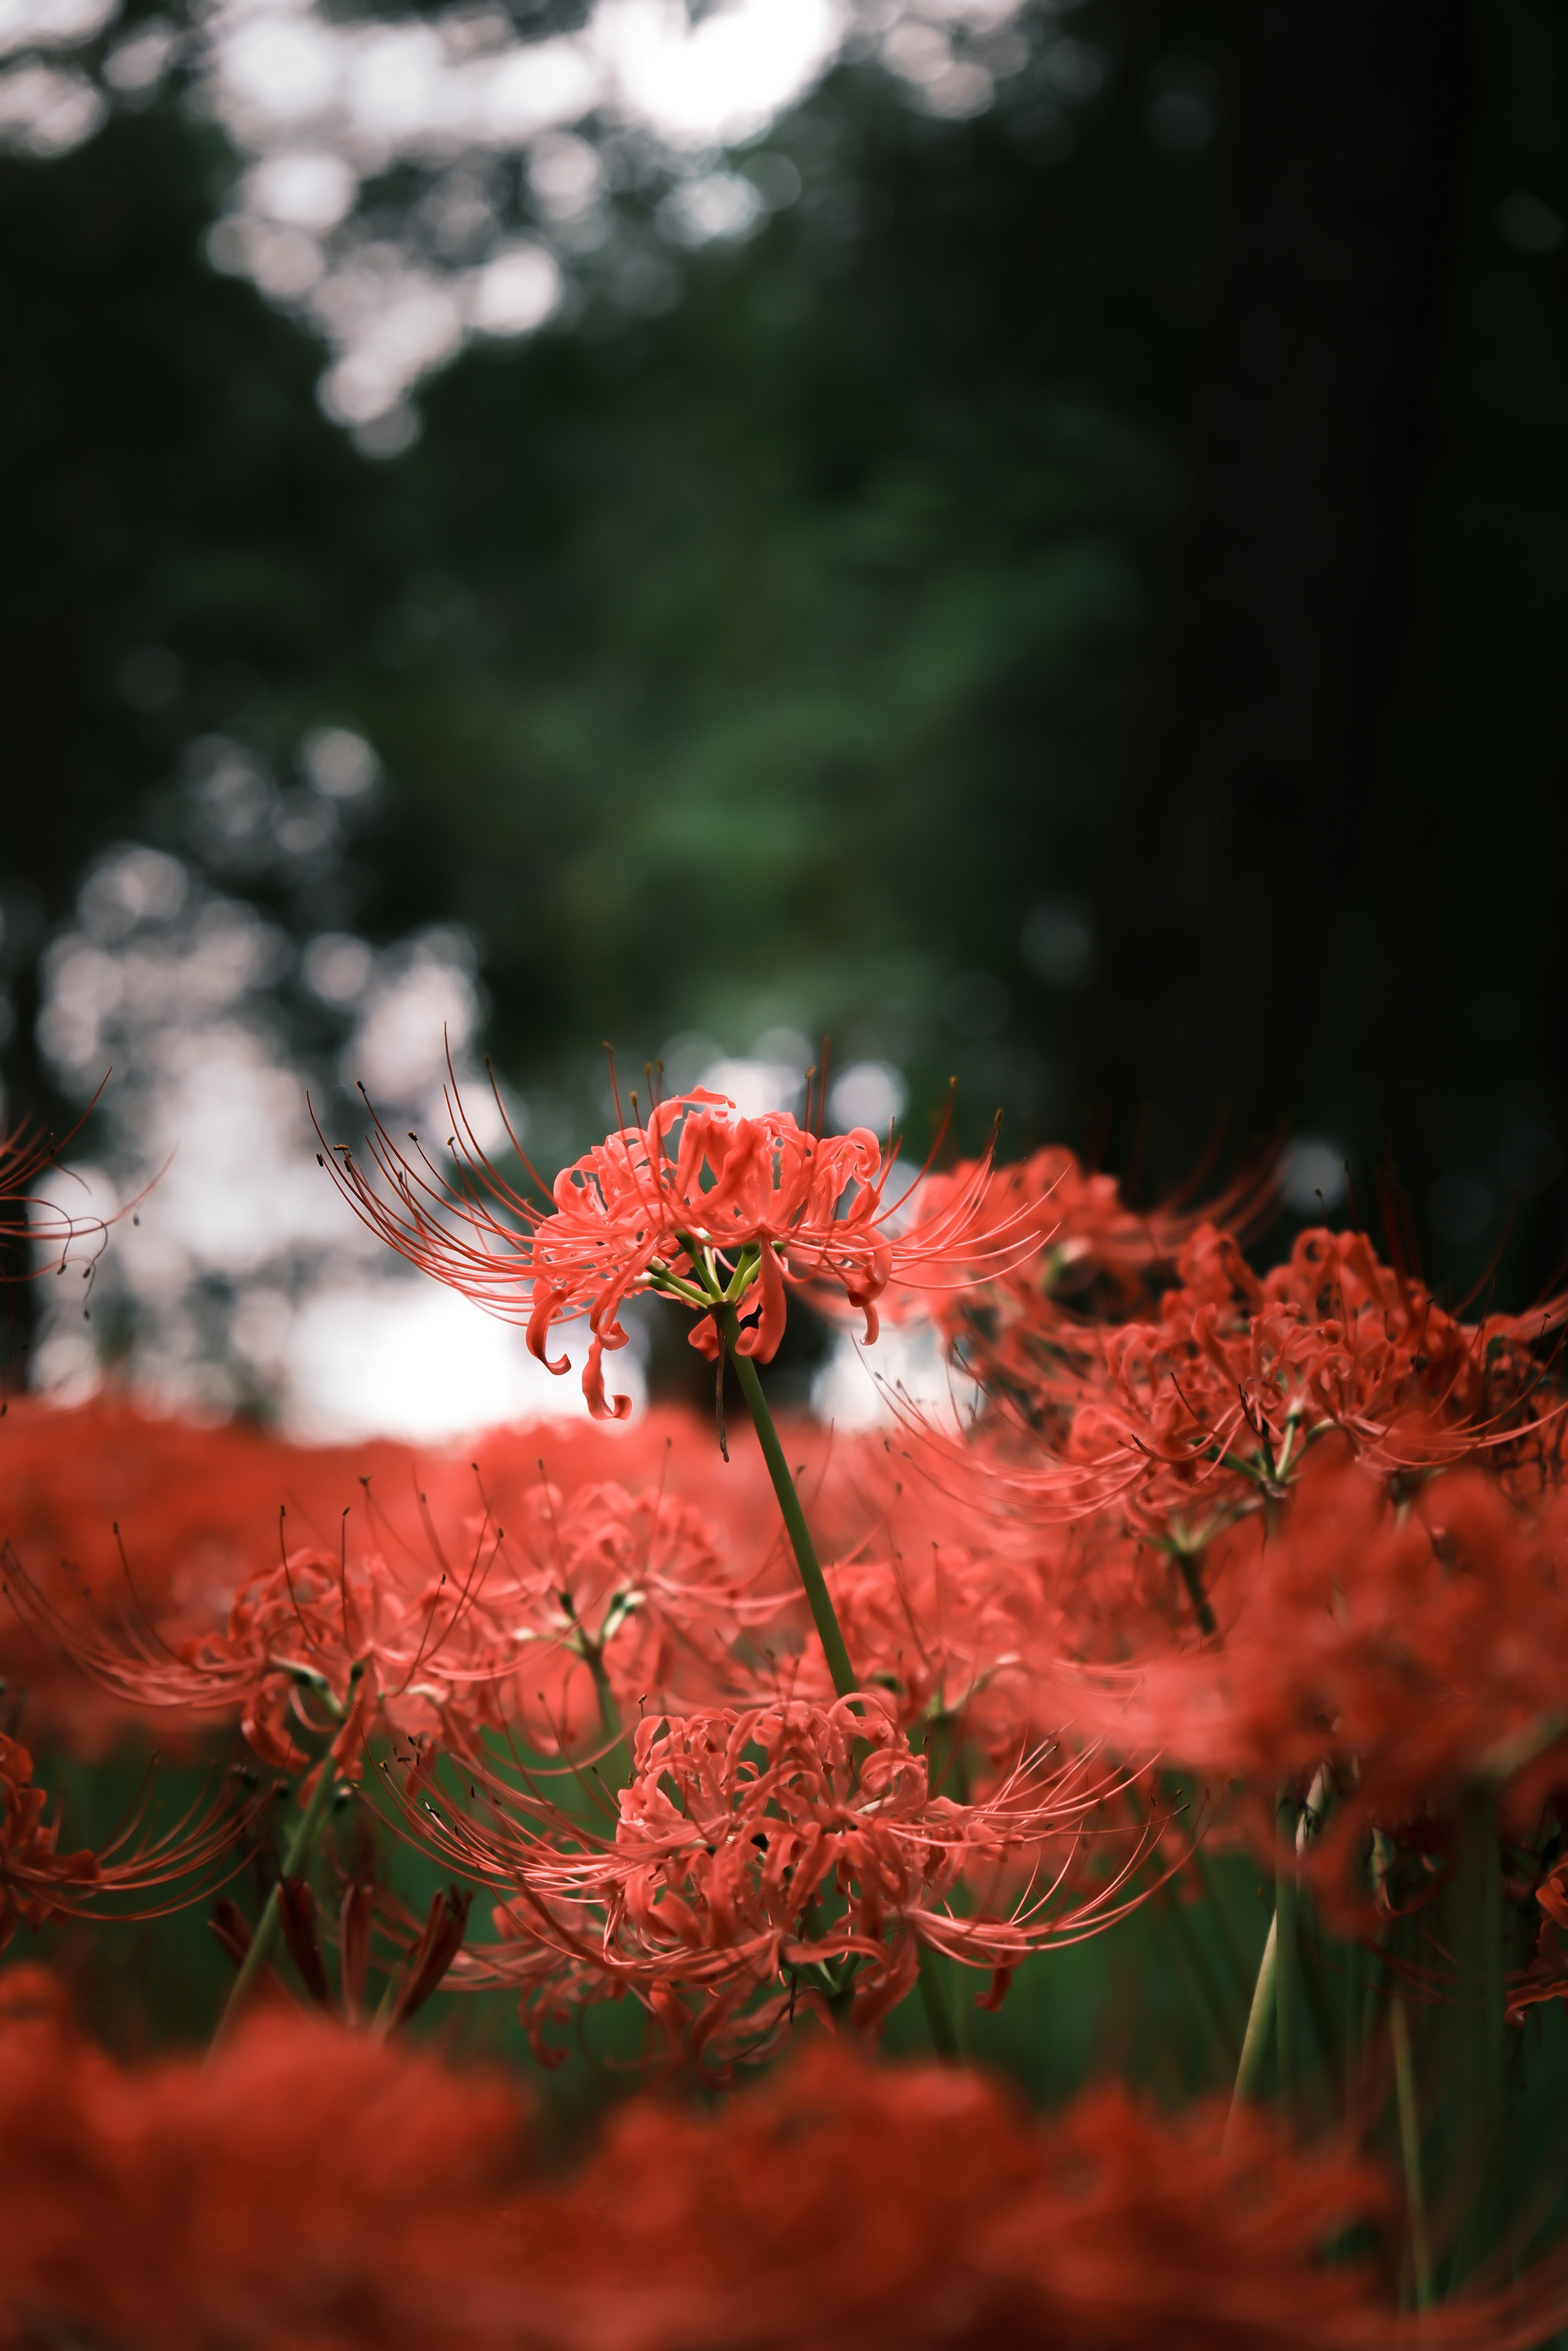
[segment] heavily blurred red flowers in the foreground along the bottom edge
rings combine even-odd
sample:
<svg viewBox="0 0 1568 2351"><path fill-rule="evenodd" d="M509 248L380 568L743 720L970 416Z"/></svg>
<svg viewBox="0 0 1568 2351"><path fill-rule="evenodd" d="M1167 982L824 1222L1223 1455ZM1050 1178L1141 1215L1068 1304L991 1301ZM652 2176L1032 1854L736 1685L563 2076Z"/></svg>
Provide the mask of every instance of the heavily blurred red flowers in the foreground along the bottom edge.
<svg viewBox="0 0 1568 2351"><path fill-rule="evenodd" d="M1394 2196L1260 2116L1095 2090L1048 2125L842 2045L712 2116L639 2099L522 2170L515 2090L254 2015L125 2069L35 1968L0 1982L0 2339L120 2351L1526 2351L1561 2271L1401 2320L1328 2264Z"/></svg>

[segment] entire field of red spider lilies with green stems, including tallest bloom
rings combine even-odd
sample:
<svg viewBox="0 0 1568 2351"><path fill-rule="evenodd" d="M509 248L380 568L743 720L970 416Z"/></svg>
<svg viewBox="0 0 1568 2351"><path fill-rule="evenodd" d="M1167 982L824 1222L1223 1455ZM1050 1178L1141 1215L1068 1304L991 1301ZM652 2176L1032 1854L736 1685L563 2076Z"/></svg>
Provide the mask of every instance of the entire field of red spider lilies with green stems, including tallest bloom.
<svg viewBox="0 0 1568 2351"><path fill-rule="evenodd" d="M592 1418L12 1401L2 2342L1568 2325L1568 1302L701 1091L322 1157ZM792 1295L973 1411L776 1420Z"/></svg>

